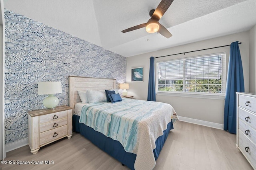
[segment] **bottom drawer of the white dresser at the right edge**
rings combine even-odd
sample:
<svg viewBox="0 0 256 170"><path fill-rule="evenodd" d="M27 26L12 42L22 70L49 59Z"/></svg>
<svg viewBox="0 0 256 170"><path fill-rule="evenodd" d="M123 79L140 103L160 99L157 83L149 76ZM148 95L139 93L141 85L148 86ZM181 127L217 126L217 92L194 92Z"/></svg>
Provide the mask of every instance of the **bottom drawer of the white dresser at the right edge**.
<svg viewBox="0 0 256 170"><path fill-rule="evenodd" d="M250 161L250 163L256 167L256 145L250 141L242 131L238 131L239 135L239 148L242 153L246 156L246 158ZM246 149L248 147L249 149ZM246 152L248 150L248 152Z"/></svg>

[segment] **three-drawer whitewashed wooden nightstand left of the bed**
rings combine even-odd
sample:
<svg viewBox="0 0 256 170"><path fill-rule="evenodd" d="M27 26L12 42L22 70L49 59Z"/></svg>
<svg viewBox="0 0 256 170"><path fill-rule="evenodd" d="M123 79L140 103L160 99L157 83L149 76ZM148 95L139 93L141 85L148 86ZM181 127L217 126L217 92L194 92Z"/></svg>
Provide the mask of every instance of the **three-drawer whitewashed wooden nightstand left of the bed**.
<svg viewBox="0 0 256 170"><path fill-rule="evenodd" d="M28 111L28 142L31 153L61 138L72 137L72 107Z"/></svg>

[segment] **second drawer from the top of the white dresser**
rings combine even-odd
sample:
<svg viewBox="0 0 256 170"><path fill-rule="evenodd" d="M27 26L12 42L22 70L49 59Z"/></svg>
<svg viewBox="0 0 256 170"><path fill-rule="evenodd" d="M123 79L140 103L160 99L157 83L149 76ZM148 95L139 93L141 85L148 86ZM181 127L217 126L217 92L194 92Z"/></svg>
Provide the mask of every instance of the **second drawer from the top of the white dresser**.
<svg viewBox="0 0 256 170"><path fill-rule="evenodd" d="M250 113L242 108L238 108L238 117L246 123L246 125L250 125L251 127L256 127L256 115L254 113Z"/></svg>

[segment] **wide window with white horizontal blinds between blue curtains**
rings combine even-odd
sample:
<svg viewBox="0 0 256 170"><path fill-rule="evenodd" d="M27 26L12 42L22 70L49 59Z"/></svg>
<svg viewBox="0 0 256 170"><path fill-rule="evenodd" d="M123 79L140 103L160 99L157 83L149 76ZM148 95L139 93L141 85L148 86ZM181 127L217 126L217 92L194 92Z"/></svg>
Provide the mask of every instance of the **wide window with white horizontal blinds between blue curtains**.
<svg viewBox="0 0 256 170"><path fill-rule="evenodd" d="M156 63L157 92L225 95L226 55Z"/></svg>

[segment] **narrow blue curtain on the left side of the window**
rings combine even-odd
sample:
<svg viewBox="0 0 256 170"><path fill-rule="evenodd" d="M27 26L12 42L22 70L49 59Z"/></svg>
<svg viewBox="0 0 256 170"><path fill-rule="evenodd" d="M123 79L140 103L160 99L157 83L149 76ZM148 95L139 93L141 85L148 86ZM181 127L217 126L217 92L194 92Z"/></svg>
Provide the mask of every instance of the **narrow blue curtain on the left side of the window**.
<svg viewBox="0 0 256 170"><path fill-rule="evenodd" d="M150 68L149 68L149 79L148 79L148 101L156 102L154 57L150 57Z"/></svg>

